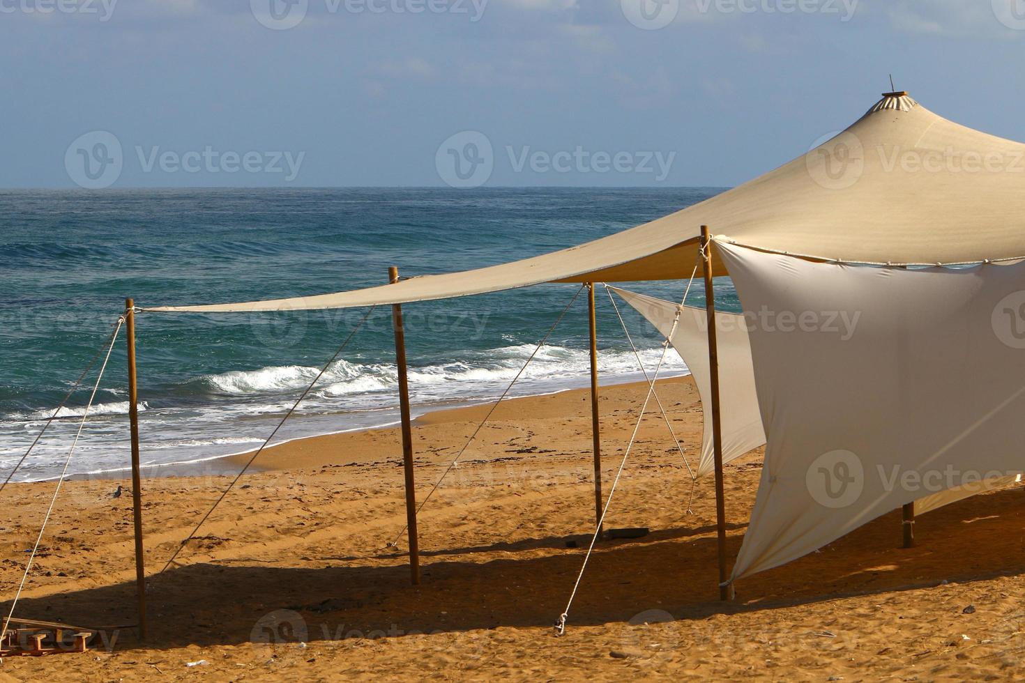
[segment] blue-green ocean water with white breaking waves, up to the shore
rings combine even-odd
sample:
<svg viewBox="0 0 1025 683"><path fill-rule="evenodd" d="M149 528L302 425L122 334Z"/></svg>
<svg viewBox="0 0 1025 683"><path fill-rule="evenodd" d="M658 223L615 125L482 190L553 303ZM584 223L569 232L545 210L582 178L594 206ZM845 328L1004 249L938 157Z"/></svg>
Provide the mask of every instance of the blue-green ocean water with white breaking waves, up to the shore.
<svg viewBox="0 0 1025 683"><path fill-rule="evenodd" d="M124 298L172 305L277 298L473 268L593 240L717 188L126 189L0 191L0 474L6 477L113 330ZM631 284L679 300L685 282ZM543 285L405 307L415 414L498 396L579 289ZM716 288L717 289L717 288ZM695 283L691 299L703 301ZM736 308L728 286L721 305ZM604 290L603 382L641 378ZM622 304L646 366L657 333ZM137 316L142 461L154 473L258 445L365 309ZM391 311L378 308L275 442L394 424ZM123 334L70 471L129 462ZM511 395L587 384L581 294ZM663 376L686 367L669 353ZM95 373L15 480L53 477ZM154 469L155 468L155 469Z"/></svg>

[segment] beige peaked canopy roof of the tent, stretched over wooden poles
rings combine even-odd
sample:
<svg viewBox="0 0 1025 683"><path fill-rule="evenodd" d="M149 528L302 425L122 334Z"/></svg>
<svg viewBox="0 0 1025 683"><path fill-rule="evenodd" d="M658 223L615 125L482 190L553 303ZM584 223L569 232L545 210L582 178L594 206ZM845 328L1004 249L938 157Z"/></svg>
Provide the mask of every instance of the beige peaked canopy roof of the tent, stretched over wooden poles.
<svg viewBox="0 0 1025 683"><path fill-rule="evenodd" d="M351 292L144 310L346 308L548 282L683 279L698 266L701 225L737 244L821 260L931 265L1023 257L1025 144L966 128L894 94L838 135L770 173L584 245ZM717 266L716 274L724 274Z"/></svg>

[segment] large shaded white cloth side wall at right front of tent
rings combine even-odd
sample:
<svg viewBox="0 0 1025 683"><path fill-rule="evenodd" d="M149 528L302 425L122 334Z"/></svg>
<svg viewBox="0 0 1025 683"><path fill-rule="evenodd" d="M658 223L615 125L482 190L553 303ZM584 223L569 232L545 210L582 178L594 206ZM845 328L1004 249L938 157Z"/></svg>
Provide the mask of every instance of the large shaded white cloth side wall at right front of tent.
<svg viewBox="0 0 1025 683"><path fill-rule="evenodd" d="M905 269L719 245L768 435L733 579L1025 465L1025 263Z"/></svg>

